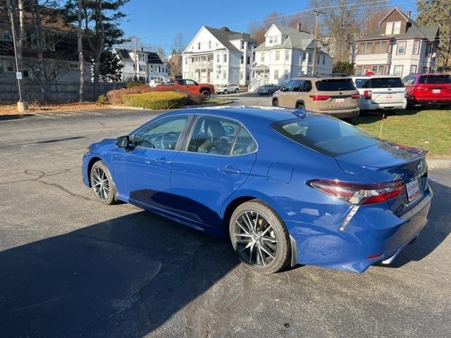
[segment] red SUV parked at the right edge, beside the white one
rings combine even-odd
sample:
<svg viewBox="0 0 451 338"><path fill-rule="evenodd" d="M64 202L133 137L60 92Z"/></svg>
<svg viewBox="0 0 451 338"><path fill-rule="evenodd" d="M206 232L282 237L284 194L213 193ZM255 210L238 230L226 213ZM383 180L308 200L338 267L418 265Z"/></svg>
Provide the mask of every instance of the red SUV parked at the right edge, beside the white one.
<svg viewBox="0 0 451 338"><path fill-rule="evenodd" d="M451 105L451 75L412 74L402 79L407 90L407 108L415 105Z"/></svg>

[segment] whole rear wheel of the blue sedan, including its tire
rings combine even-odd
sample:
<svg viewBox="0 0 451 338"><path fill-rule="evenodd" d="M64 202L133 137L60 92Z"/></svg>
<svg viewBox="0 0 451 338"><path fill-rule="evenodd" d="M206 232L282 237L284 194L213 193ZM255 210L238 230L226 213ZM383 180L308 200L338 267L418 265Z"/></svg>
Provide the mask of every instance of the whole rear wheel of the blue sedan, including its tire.
<svg viewBox="0 0 451 338"><path fill-rule="evenodd" d="M229 234L240 261L259 273L277 273L290 262L288 230L276 211L259 199L235 209Z"/></svg>

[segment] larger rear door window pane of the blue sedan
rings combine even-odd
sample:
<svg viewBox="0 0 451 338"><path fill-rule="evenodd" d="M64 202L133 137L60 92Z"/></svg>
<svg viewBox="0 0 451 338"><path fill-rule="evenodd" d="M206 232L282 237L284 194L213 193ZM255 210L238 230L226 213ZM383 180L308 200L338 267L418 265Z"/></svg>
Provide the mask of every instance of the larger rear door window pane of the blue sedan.
<svg viewBox="0 0 451 338"><path fill-rule="evenodd" d="M187 151L230 155L240 124L226 118L202 116L197 120Z"/></svg>

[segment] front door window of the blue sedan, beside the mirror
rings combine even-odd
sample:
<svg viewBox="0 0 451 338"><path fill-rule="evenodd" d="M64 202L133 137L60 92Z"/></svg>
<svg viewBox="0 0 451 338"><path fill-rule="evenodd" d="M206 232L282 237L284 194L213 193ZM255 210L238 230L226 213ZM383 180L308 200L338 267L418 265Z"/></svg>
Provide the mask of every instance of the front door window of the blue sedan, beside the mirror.
<svg viewBox="0 0 451 338"><path fill-rule="evenodd" d="M174 150L187 120L187 115L163 118L135 132L130 142L142 148Z"/></svg>

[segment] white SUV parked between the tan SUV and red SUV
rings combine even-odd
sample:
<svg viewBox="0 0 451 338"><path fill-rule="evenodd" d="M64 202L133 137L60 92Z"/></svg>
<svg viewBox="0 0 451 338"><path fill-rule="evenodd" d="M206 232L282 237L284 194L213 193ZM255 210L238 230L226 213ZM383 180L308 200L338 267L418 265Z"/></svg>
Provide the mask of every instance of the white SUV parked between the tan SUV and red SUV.
<svg viewBox="0 0 451 338"><path fill-rule="evenodd" d="M360 93L360 110L405 109L407 94L400 77L395 75L356 75L352 81Z"/></svg>

